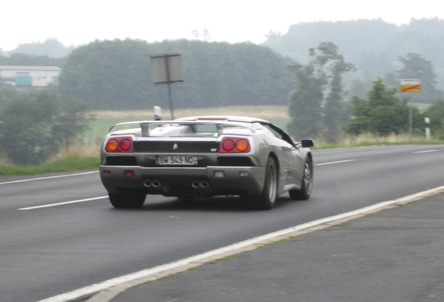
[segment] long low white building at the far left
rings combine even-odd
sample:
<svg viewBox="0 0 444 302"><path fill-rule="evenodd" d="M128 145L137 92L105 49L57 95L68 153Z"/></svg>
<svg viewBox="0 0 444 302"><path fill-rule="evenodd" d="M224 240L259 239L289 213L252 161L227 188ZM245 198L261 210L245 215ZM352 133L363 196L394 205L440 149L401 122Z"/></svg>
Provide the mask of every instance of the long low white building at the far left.
<svg viewBox="0 0 444 302"><path fill-rule="evenodd" d="M0 85L38 86L57 85L61 69L57 66L1 66Z"/></svg>

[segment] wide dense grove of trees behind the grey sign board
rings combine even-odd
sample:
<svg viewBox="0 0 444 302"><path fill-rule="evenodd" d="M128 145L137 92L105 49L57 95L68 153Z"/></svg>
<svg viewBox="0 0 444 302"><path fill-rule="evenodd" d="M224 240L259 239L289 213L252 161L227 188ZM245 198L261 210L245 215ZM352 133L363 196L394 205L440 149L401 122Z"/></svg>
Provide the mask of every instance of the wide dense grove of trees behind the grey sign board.
<svg viewBox="0 0 444 302"><path fill-rule="evenodd" d="M289 60L249 43L96 41L67 58L59 93L94 109L168 108L165 86L154 87L150 56L182 53L185 83L172 85L175 108L283 105L291 89Z"/></svg>

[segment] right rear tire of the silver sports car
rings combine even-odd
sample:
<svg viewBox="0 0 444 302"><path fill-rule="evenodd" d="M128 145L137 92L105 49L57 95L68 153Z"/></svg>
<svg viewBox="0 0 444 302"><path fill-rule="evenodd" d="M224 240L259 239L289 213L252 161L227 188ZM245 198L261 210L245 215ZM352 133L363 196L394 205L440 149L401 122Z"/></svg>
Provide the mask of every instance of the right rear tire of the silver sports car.
<svg viewBox="0 0 444 302"><path fill-rule="evenodd" d="M265 182L262 193L258 196L250 196L252 206L259 210L271 210L276 204L278 172L274 159L269 157L265 169Z"/></svg>

